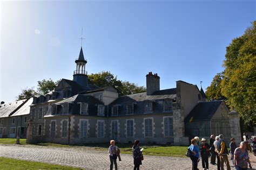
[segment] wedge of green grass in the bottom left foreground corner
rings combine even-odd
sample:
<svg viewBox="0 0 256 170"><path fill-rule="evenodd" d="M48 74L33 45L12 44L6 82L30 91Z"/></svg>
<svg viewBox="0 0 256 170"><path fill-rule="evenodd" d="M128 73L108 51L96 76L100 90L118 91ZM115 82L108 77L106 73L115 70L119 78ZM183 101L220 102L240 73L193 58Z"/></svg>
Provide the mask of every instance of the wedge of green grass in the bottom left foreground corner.
<svg viewBox="0 0 256 170"><path fill-rule="evenodd" d="M0 169L81 169L69 166L45 164L41 162L25 161L0 157Z"/></svg>

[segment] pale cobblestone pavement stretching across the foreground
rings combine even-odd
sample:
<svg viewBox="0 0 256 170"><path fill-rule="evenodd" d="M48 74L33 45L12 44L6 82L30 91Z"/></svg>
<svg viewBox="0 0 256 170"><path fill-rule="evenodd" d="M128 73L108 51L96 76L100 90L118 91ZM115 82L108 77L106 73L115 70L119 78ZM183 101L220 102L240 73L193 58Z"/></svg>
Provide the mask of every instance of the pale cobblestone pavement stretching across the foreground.
<svg viewBox="0 0 256 170"><path fill-rule="evenodd" d="M68 165L85 169L109 169L110 164L107 152L80 147L0 145L0 157ZM133 159L130 154L122 154L121 158L122 161L117 162L119 169L133 169ZM256 162L253 162L253 166L256 167ZM210 165L209 168L217 169L217 166ZM191 169L191 160L189 158L144 155L143 165L140 169ZM202 169L201 161L199 162L199 169Z"/></svg>

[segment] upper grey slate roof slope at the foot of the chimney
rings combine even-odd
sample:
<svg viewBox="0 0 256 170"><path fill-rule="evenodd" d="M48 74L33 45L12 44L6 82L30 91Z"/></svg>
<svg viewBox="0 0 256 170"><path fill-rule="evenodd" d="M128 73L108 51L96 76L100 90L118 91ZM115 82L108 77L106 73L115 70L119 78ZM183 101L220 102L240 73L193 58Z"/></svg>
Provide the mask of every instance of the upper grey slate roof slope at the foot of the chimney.
<svg viewBox="0 0 256 170"><path fill-rule="evenodd" d="M146 100L159 100L164 98L176 98L176 88L165 89L155 91L152 95L147 96L146 92L137 93L132 95L120 96L117 100L113 101L111 104L122 104L129 102L142 102Z"/></svg>

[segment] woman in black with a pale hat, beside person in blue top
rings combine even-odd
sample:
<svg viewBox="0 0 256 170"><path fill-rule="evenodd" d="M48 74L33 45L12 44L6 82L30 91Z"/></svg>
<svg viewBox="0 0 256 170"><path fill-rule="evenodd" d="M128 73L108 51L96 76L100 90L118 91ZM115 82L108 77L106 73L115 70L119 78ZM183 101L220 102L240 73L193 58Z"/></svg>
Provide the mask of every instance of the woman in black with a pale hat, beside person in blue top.
<svg viewBox="0 0 256 170"><path fill-rule="evenodd" d="M200 145L200 153L202 158L203 169L209 168L208 155L210 155L210 146L206 143L206 139L202 138L202 144Z"/></svg>

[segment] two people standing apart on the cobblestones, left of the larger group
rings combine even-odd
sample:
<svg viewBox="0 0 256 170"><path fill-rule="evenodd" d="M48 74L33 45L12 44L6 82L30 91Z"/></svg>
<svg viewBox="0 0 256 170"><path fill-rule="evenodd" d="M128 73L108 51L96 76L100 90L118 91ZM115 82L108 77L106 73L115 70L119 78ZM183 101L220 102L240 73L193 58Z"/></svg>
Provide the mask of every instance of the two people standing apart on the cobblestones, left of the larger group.
<svg viewBox="0 0 256 170"><path fill-rule="evenodd" d="M119 161L121 161L120 158L120 150L115 145L114 140L110 140L110 146L109 146L109 158L110 158L110 170L114 168L117 170L117 158ZM134 164L134 170L139 170L139 166L142 165L143 154L142 150L139 148L139 140L134 141L134 145L132 146L132 157L133 157L133 164Z"/></svg>

